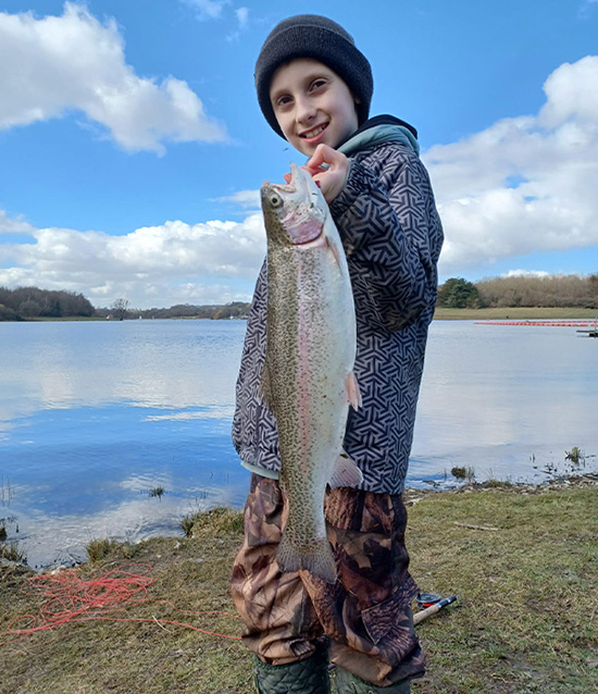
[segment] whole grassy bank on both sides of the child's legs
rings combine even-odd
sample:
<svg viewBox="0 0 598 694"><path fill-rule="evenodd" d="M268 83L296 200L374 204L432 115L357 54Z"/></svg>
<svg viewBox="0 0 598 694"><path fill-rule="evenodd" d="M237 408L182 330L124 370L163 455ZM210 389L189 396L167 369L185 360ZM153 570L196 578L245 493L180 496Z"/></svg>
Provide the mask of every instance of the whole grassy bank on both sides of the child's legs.
<svg viewBox="0 0 598 694"><path fill-rule="evenodd" d="M544 487L410 491L407 499L414 578L424 591L459 596L456 606L418 627L428 673L413 693L598 691L596 475ZM224 637L239 633L238 621L223 612L233 611L228 574L240 515L204 515L192 533L107 546L101 560L67 575L90 581L124 568L129 579L152 579L147 595L117 611L94 612L105 620L20 639L5 633L10 625L30 629L32 618L23 616L51 604L48 595L28 594L35 584L25 569L0 568L0 692L253 692L246 650ZM108 582L96 584L99 595ZM66 607L54 605L58 621L65 621Z"/></svg>

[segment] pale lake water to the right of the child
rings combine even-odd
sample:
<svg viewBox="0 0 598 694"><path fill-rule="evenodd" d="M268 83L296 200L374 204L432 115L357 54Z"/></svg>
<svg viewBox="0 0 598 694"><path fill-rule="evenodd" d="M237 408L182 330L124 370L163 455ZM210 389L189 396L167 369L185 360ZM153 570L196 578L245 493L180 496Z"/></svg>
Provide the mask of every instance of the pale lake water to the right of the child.
<svg viewBox="0 0 598 694"><path fill-rule="evenodd" d="M591 463L597 347L569 329L434 323L412 474L458 466L539 481L546 467L564 471L573 446Z"/></svg>

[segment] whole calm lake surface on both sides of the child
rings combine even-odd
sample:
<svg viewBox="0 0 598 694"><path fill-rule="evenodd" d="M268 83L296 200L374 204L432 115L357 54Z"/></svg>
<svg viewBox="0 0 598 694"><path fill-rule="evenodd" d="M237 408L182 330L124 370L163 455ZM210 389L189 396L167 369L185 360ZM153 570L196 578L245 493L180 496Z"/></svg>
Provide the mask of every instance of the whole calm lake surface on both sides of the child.
<svg viewBox="0 0 598 694"><path fill-rule="evenodd" d="M231 423L245 327L0 323L0 519L32 566L242 506ZM597 365L598 339L574 329L435 322L408 484L445 484L453 467L541 482L574 446L595 470Z"/></svg>

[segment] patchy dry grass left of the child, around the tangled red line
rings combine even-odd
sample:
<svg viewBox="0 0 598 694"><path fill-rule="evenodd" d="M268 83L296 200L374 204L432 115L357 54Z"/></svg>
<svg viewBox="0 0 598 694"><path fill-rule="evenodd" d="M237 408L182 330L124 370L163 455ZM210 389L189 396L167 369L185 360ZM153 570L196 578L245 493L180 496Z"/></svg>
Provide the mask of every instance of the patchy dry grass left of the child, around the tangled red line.
<svg viewBox="0 0 598 694"><path fill-rule="evenodd" d="M238 531L223 535L214 532L211 536L202 533L195 538L154 538L137 545L133 557L129 547L111 547L101 561L86 565L78 572L89 579L132 562L151 565L149 602L115 615L119 619L148 621L66 624L0 646L0 693L251 692L249 656L239 641L167 623L177 621L238 635L238 620L221 612L233 611L228 575L239 538ZM136 571L135 567L130 570ZM0 579L0 632L11 619L36 614L41 606L39 598L20 593L25 577L9 578L8 573L4 571L4 580ZM219 614L202 614L207 611Z"/></svg>

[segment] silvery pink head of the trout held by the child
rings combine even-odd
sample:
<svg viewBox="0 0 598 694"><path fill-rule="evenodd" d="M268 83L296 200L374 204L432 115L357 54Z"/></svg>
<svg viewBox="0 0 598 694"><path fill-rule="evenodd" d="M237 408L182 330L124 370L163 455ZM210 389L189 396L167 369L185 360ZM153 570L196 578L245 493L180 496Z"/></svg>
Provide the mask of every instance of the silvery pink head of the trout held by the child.
<svg viewBox="0 0 598 694"><path fill-rule="evenodd" d="M308 171L291 163L289 182L265 181L261 196L269 244L312 246L324 240L328 206Z"/></svg>

